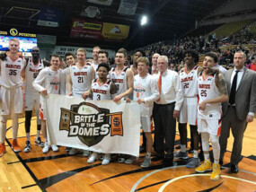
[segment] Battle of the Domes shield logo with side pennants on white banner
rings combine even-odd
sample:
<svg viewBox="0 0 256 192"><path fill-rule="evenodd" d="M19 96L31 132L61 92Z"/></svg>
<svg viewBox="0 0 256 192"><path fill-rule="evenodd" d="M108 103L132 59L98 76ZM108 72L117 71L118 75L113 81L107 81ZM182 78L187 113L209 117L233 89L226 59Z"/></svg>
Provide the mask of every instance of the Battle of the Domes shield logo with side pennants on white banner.
<svg viewBox="0 0 256 192"><path fill-rule="evenodd" d="M99 144L104 136L123 135L122 112L110 113L110 109L98 108L89 102L61 108L59 130L68 137L77 136L87 146Z"/></svg>

